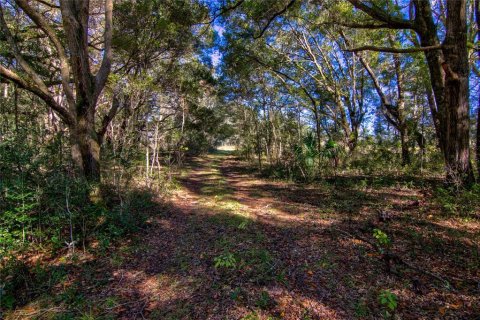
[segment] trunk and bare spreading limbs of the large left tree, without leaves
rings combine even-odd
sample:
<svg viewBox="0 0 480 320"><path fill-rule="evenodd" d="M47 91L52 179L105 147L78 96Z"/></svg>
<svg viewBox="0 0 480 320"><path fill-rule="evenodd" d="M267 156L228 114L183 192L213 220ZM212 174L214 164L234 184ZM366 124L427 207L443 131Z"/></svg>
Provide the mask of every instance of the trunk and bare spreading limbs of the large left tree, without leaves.
<svg viewBox="0 0 480 320"><path fill-rule="evenodd" d="M98 98L111 69L113 0L105 0L101 44L103 57L100 60L96 59L99 53L92 54L89 48L89 37L93 31L90 28L92 8L88 0L61 1L60 7L49 2L31 4L27 0L16 0L15 3L29 18L28 21L22 21L19 27L26 29L31 26L47 36L49 42L42 41L39 45L52 53L54 62L49 71L54 72L54 77L53 81L49 81L50 75L40 72L27 58L26 48L12 34L7 22L16 8L9 7L6 1L0 2L0 28L14 59L6 66L3 65L6 59L2 60L0 75L37 95L56 112L69 128L74 163L88 181L98 182L100 141L104 130L96 129L95 116ZM55 14L45 14L45 8L54 10ZM57 21L61 21L61 24ZM56 31L59 27L65 34L64 39ZM91 61L101 62L92 66ZM62 88L61 96L66 98L65 104L51 90L51 86L58 83ZM117 110L118 105L113 103L102 121L102 127L109 124Z"/></svg>

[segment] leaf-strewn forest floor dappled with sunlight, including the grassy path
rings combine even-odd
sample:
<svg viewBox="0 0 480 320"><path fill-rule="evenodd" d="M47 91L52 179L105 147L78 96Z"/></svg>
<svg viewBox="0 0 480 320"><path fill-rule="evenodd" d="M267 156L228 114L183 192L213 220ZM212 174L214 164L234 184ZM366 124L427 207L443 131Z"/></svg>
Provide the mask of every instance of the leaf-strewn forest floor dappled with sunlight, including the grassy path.
<svg viewBox="0 0 480 320"><path fill-rule="evenodd" d="M158 202L7 318L480 319L480 223L428 189L273 181L218 152Z"/></svg>

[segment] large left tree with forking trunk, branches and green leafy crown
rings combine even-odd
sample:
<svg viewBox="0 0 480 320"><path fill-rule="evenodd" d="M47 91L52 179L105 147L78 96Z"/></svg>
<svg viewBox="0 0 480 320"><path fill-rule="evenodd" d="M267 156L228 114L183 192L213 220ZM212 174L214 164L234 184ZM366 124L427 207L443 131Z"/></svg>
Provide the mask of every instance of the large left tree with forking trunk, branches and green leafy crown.
<svg viewBox="0 0 480 320"><path fill-rule="evenodd" d="M113 0L68 0L59 6L0 0L0 29L10 49L0 53L0 76L54 110L69 129L78 171L93 184L100 181L104 135L122 109L116 95L129 75L141 75L159 60L173 65L191 52L195 41L201 41L193 36L192 26L208 16L197 2L120 1L115 21L113 10ZM112 68L116 79L125 77L109 80ZM107 82L113 91L110 98L102 94ZM106 104L109 108L103 110Z"/></svg>

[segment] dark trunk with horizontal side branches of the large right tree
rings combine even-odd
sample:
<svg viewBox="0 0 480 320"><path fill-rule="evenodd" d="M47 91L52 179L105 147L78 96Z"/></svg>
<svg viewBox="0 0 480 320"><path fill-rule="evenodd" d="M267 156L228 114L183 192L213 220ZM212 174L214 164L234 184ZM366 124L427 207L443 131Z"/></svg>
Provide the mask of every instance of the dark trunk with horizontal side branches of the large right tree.
<svg viewBox="0 0 480 320"><path fill-rule="evenodd" d="M440 43L440 28L435 23L430 1L413 0L414 17L404 18L371 1L348 0L355 8L379 23L355 25L363 28L413 30L422 47L414 49L365 46L351 51L377 50L397 53L423 51L435 97L432 117L438 124L437 137L445 159L447 181L469 185L474 181L469 145L469 65L465 0L447 0L445 39Z"/></svg>

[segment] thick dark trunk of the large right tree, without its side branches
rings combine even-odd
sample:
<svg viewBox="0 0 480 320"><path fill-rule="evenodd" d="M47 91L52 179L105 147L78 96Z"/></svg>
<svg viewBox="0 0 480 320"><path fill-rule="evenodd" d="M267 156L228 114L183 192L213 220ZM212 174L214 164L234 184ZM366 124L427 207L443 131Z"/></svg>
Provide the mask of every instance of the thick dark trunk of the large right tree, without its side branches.
<svg viewBox="0 0 480 320"><path fill-rule="evenodd" d="M438 45L430 3L417 1L416 27L422 46ZM466 1L447 1L446 35L442 50L425 52L435 96L432 117L445 159L447 183L474 181L469 149L468 50ZM431 103L430 107L432 108Z"/></svg>

